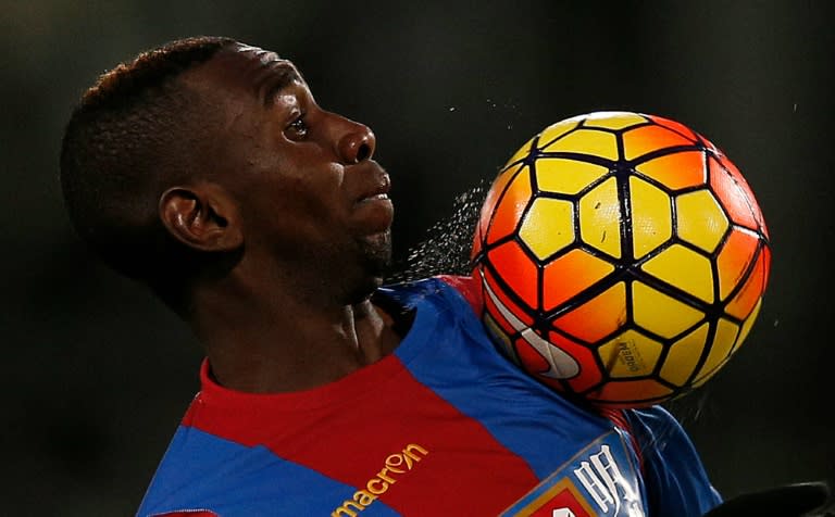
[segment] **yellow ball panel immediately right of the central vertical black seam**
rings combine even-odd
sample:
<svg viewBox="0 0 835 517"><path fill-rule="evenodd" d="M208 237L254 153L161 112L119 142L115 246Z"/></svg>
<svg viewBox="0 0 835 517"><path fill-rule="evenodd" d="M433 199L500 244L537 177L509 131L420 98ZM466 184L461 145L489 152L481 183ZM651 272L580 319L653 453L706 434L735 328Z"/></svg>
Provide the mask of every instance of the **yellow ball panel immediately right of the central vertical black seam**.
<svg viewBox="0 0 835 517"><path fill-rule="evenodd" d="M640 258L673 236L670 197L635 176L630 178L632 252Z"/></svg>

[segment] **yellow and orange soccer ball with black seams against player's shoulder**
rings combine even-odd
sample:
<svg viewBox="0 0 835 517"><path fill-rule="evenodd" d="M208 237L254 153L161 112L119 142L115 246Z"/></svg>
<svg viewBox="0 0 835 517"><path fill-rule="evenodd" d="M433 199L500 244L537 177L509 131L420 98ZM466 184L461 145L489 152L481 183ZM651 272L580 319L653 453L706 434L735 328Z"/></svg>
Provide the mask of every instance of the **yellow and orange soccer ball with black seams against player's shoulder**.
<svg viewBox="0 0 835 517"><path fill-rule="evenodd" d="M701 386L760 310L771 251L739 171L659 116L547 127L494 181L473 248L483 319L536 379L611 407Z"/></svg>

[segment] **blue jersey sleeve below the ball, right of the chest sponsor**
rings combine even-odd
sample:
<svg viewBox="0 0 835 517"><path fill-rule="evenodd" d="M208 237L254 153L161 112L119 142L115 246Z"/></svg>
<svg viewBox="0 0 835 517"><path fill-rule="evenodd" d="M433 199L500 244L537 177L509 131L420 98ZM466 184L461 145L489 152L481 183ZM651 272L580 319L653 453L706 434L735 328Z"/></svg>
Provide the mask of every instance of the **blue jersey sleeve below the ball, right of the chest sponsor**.
<svg viewBox="0 0 835 517"><path fill-rule="evenodd" d="M701 516L722 502L696 447L670 413L660 406L624 413L640 449L648 515Z"/></svg>

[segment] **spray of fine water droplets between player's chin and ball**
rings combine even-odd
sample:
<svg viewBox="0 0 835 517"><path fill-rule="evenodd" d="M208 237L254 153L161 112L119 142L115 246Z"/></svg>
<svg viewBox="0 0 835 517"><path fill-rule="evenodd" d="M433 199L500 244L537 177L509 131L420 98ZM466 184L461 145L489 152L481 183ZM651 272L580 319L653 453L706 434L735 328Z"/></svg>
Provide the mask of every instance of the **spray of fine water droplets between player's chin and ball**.
<svg viewBox="0 0 835 517"><path fill-rule="evenodd" d="M470 274L470 252L475 225L490 184L478 185L458 196L452 215L435 223L426 238L409 250L406 263L389 276L387 282L408 282L434 275Z"/></svg>

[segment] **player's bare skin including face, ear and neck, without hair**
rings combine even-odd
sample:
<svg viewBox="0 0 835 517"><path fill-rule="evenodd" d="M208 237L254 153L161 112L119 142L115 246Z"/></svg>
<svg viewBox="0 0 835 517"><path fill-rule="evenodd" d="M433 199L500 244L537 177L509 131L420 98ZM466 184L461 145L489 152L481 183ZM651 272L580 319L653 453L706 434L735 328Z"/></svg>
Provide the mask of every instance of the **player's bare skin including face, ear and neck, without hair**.
<svg viewBox="0 0 835 517"><path fill-rule="evenodd" d="M321 109L295 66L242 45L180 80L214 106L213 152L165 190L183 244L239 258L195 274L184 315L230 389L286 392L345 377L400 338L372 304L390 257L388 175L366 126Z"/></svg>

